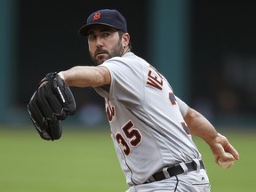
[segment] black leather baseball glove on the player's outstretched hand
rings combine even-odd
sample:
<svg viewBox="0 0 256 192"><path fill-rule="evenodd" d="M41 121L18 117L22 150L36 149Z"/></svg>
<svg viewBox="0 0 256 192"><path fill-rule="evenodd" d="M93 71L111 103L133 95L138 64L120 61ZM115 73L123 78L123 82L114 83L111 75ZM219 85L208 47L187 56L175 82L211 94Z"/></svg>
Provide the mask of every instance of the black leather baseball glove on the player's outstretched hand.
<svg viewBox="0 0 256 192"><path fill-rule="evenodd" d="M47 74L28 103L28 113L44 140L61 137L61 120L73 115L76 100L68 85L55 73Z"/></svg>

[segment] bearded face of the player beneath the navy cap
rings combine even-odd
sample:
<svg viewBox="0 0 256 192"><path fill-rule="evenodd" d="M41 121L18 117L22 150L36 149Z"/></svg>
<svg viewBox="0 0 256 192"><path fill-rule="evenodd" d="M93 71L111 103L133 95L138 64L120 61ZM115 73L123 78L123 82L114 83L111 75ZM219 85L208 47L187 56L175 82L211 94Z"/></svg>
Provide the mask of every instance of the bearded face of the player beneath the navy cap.
<svg viewBox="0 0 256 192"><path fill-rule="evenodd" d="M117 29L103 25L97 25L88 31L88 45L91 59L96 65L124 53L122 37Z"/></svg>

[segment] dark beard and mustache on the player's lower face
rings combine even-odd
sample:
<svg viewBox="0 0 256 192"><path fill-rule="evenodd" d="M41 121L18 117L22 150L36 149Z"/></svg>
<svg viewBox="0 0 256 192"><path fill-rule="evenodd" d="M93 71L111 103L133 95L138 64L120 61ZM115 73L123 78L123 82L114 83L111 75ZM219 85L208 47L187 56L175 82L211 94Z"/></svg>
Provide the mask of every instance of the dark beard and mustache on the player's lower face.
<svg viewBox="0 0 256 192"><path fill-rule="evenodd" d="M103 54L102 56L98 56L98 54ZM119 40L116 44L116 46L114 46L114 48L112 50L105 50L102 47L98 47L96 49L95 52L90 52L90 56L91 56L91 60L95 65L100 65L102 64L105 60L109 60L110 58L113 57L121 57L124 53L124 48L123 48L123 44L122 41Z"/></svg>

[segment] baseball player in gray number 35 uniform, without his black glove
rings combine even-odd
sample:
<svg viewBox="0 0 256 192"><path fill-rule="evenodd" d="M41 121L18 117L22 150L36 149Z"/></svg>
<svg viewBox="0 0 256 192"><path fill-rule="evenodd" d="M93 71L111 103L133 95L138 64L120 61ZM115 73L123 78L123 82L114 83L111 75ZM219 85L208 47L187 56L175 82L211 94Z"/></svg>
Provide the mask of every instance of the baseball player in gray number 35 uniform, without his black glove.
<svg viewBox="0 0 256 192"><path fill-rule="evenodd" d="M120 12L93 12L79 34L88 38L96 66L76 66L59 76L69 86L94 87L105 99L127 191L210 191L191 135L205 140L217 164L221 159L231 166L239 155L227 138L180 100L156 68L131 52Z"/></svg>

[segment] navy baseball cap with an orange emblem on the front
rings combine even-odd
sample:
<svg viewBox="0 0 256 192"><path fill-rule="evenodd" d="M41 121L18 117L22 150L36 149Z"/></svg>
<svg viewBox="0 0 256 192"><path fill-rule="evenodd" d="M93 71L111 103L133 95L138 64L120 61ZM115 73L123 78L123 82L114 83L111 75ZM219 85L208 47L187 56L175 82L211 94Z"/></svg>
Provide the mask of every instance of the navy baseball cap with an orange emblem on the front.
<svg viewBox="0 0 256 192"><path fill-rule="evenodd" d="M93 25L105 25L120 29L124 31L124 33L127 32L126 20L124 16L116 10L103 9L93 12L88 17L86 24L79 29L78 34L80 36L87 36L88 30L92 28Z"/></svg>

